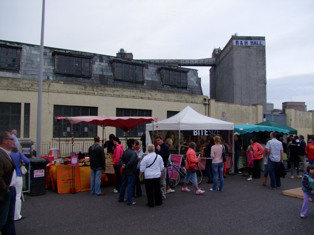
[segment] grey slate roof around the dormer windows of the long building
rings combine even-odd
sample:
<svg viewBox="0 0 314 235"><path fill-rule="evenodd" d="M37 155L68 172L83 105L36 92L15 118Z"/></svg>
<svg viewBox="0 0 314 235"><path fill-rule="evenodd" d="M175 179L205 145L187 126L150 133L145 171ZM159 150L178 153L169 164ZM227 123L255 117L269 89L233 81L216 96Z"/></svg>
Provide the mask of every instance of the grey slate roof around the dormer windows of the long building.
<svg viewBox="0 0 314 235"><path fill-rule="evenodd" d="M19 70L5 70L0 69L0 76L17 77L24 79L38 79L39 76L39 57L40 46L33 44L24 44L19 42L11 42L0 40L0 46L9 45L21 47L20 69ZM76 54L81 56L92 57L92 73L91 77L77 77L55 74L55 59L54 52ZM113 87L131 87L138 89L149 89L167 92L179 92L186 94L203 95L201 88L201 79L198 77L198 72L195 69L186 69L187 72L187 88L180 88L174 86L163 85L162 76L160 74L160 67L169 67L172 69L182 69L182 67L174 67L169 65L160 65L148 63L141 60L127 60L115 56L100 55L95 53L58 49L52 47L44 47L44 63L43 63L43 79L67 82L79 82L95 85L105 85ZM117 81L113 78L112 60L125 60L136 62L145 65L144 83Z"/></svg>

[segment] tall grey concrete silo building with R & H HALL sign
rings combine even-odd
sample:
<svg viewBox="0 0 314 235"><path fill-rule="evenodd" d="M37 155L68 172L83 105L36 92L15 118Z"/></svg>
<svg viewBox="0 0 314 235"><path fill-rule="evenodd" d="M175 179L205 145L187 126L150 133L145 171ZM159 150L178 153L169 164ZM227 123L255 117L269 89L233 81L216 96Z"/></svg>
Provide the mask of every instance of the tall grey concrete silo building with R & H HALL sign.
<svg viewBox="0 0 314 235"><path fill-rule="evenodd" d="M217 102L262 104L266 111L265 37L232 36L223 50L214 49L210 98Z"/></svg>

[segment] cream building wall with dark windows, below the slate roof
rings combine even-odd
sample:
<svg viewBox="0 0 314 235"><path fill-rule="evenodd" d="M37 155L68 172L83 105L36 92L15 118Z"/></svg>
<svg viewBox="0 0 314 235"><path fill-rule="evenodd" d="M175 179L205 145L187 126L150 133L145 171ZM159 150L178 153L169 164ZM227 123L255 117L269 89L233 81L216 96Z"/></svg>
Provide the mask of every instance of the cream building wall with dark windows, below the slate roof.
<svg viewBox="0 0 314 235"><path fill-rule="evenodd" d="M36 140L37 87L37 80L0 77L1 102L18 102L22 103L22 107L24 103L30 103L29 139L33 141ZM187 105L205 115L204 98L208 100L207 96L202 95L46 80L43 81L42 94L42 141L52 140L55 104L98 107L98 115L105 116L116 116L116 108L148 109L152 110L152 116L163 120L167 118L167 111L181 111ZM23 114L22 110L21 116ZM115 133L115 128L106 127L106 131ZM102 133L101 127L98 128L98 133ZM22 127L20 136L23 136Z"/></svg>

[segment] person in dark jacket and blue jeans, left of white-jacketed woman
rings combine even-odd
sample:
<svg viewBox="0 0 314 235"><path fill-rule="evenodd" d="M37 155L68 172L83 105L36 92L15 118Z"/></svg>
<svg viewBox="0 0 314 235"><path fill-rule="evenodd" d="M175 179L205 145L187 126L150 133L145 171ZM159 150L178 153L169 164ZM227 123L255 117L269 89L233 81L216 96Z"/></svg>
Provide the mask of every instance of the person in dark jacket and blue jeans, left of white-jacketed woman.
<svg viewBox="0 0 314 235"><path fill-rule="evenodd" d="M127 140L127 149L119 159L119 165L122 168L123 180L119 192L119 202L127 201L127 205L135 205L132 200L133 185L135 183L135 173L138 162L138 155L134 150L135 139ZM127 200L124 199L125 189L127 187Z"/></svg>

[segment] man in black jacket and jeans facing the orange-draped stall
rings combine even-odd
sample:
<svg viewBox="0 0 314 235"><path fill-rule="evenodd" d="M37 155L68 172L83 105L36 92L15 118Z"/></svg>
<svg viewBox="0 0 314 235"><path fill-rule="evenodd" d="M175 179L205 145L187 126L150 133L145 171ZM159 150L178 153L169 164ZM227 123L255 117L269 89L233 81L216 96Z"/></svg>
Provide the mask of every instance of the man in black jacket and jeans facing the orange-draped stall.
<svg viewBox="0 0 314 235"><path fill-rule="evenodd" d="M106 171L105 151L99 145L99 136L94 137L94 144L88 149L90 161L90 195L105 195L100 191L101 172Z"/></svg>

